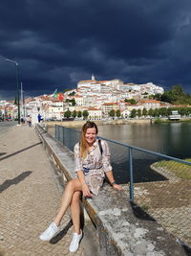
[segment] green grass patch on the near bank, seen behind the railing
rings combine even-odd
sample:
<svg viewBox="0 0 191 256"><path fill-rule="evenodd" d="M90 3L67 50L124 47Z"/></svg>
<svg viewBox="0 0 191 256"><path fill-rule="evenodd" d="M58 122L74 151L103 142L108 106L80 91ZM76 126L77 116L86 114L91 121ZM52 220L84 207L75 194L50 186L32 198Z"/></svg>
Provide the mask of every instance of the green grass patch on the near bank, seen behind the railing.
<svg viewBox="0 0 191 256"><path fill-rule="evenodd" d="M184 159L184 161L191 162L191 158ZM191 165L169 160L159 161L155 163L155 167L164 168L182 179L191 179Z"/></svg>

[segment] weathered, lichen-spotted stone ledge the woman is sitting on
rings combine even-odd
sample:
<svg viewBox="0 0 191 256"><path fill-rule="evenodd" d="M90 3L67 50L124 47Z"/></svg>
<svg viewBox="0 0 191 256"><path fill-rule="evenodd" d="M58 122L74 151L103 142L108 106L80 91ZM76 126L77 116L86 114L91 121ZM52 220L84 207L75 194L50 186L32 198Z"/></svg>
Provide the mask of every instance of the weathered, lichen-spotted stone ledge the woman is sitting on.
<svg viewBox="0 0 191 256"><path fill-rule="evenodd" d="M74 153L63 147L43 128L36 126L46 151L67 180L74 178ZM98 197L83 200L84 207L96 226L101 256L183 256L185 249L157 221L128 200L128 187L123 192L103 186Z"/></svg>

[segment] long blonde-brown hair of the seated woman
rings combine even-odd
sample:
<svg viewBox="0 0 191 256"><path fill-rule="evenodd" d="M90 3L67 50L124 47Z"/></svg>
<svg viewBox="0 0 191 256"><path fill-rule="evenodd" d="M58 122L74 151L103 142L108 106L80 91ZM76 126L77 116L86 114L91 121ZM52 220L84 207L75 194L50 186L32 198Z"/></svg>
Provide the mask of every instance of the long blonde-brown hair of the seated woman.
<svg viewBox="0 0 191 256"><path fill-rule="evenodd" d="M89 151L89 145L86 141L86 138L85 138L85 135L86 135L86 131L88 128L96 128L96 134L98 132L98 128L96 126L96 124L94 122L86 122L82 129L81 129L81 137L80 137L80 140L79 140L79 145L80 145L80 156L82 158L85 158L88 151Z"/></svg>

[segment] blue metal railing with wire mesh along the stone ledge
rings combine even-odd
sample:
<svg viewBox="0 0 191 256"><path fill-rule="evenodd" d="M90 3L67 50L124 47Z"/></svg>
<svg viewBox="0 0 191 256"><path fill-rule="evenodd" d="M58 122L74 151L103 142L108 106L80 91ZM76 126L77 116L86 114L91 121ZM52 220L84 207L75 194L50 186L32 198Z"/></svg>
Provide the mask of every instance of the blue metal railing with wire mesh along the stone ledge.
<svg viewBox="0 0 191 256"><path fill-rule="evenodd" d="M71 151L80 131L55 126L55 138ZM108 142L118 183L129 184L129 200L191 246L191 159L185 161L98 137Z"/></svg>

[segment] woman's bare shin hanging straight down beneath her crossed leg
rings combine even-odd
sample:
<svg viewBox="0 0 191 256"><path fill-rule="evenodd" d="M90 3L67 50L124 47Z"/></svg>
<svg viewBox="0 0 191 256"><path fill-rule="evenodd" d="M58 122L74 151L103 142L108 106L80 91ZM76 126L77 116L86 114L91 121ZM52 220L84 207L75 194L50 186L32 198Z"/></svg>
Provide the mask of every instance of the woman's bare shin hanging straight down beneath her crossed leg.
<svg viewBox="0 0 191 256"><path fill-rule="evenodd" d="M74 192L74 196L71 202L71 215L74 224L74 233L80 234L80 201L81 192Z"/></svg>

